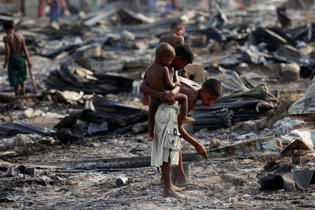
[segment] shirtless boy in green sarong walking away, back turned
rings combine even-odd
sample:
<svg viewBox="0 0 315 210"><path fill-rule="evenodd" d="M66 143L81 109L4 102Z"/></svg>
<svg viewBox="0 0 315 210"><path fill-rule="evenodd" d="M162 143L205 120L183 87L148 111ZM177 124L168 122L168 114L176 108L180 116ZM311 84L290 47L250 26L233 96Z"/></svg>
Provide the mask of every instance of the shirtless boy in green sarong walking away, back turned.
<svg viewBox="0 0 315 210"><path fill-rule="evenodd" d="M5 45L5 60L3 69L8 67L10 87L14 87L15 95L19 95L19 85L21 85L23 95L25 95L26 60L29 68L32 64L29 59L29 51L26 48L23 35L15 33L14 23L4 21L3 29L6 36L3 37Z"/></svg>

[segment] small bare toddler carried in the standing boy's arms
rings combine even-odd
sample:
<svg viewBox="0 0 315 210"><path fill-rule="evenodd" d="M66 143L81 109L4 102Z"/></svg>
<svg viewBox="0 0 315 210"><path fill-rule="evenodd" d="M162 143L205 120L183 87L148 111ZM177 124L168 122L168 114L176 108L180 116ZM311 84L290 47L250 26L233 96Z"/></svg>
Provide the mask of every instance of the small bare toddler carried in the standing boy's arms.
<svg viewBox="0 0 315 210"><path fill-rule="evenodd" d="M172 90L175 86L180 86L178 77L174 73L174 69L168 68L175 58L174 48L166 42L162 42L158 45L156 49L156 59L155 61L147 67L145 79L147 79L149 86L154 90L165 91ZM192 62L192 60L189 60ZM174 82L173 82L174 81ZM182 123L193 122L193 118L187 117L188 110L188 98L185 94L178 93L174 96L175 101L179 101L182 106ZM148 96L144 94L143 104L148 104ZM160 101L151 97L150 107L149 107L149 117L148 117L148 128L149 128L149 140L153 140L154 136L154 116L157 112Z"/></svg>

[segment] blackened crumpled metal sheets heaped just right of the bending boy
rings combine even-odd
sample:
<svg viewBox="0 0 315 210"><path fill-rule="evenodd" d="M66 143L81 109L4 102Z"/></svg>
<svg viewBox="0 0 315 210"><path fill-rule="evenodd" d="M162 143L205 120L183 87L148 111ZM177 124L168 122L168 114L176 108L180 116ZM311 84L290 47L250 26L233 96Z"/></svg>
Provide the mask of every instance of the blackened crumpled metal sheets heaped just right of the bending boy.
<svg viewBox="0 0 315 210"><path fill-rule="evenodd" d="M274 109L277 103L278 100L268 92L266 86L222 96L209 107L198 103L193 112L193 129L229 127L232 122L260 119L266 116L269 110Z"/></svg>

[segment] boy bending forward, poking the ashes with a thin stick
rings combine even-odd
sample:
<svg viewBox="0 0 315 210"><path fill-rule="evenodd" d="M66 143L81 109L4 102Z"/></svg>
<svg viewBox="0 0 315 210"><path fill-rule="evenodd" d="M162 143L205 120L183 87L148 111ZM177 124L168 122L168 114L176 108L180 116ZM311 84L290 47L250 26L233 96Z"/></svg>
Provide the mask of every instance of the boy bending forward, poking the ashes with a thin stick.
<svg viewBox="0 0 315 210"><path fill-rule="evenodd" d="M170 103L171 101L174 101L173 96L177 92L184 93L185 95L188 96L188 112L192 110L197 100L201 100L204 106L210 106L221 95L221 91L222 91L221 83L216 79L207 79L203 83L202 86L194 83L193 81L190 81L189 79L185 79L185 78L179 78L179 79L181 82L181 87L176 86L173 90L165 91L165 92L151 89L148 86L147 81L145 80L140 86L140 91L146 94L149 94L151 96L160 98L160 101L162 103ZM206 152L205 147L202 144L200 144L198 141L193 139L182 126L180 114L178 115L178 122L179 122L178 129L179 129L179 133L181 134L180 137L182 137L187 142L189 142L202 157L207 158L207 152ZM183 169L181 150L179 151L179 153L180 153L180 156L179 156L179 162L178 162L178 167L177 167L177 180L176 180L175 185L179 187L196 186L197 184L189 180L187 176L185 175L184 169ZM162 176L162 179L164 179L163 176ZM164 186L165 186L165 180L164 180Z"/></svg>

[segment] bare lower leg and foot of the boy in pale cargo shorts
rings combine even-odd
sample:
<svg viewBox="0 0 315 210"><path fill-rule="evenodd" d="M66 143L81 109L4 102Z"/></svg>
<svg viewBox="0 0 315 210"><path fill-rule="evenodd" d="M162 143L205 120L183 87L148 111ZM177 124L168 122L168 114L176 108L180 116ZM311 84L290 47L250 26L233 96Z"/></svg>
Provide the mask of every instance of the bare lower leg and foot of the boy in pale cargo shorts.
<svg viewBox="0 0 315 210"><path fill-rule="evenodd" d="M171 166L167 162L163 162L161 166L162 177L164 180L164 190L163 190L163 198L173 197L173 198L184 198L185 195L175 192L172 187L171 182Z"/></svg>

